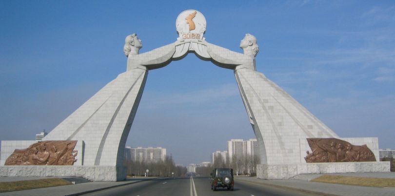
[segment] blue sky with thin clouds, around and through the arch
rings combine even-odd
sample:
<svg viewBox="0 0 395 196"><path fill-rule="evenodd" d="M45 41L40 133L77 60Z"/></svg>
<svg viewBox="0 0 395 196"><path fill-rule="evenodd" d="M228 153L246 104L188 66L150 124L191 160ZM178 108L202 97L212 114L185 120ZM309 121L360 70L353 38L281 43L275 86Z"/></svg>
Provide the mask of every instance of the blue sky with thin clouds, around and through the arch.
<svg viewBox="0 0 395 196"><path fill-rule="evenodd" d="M140 53L174 42L179 13L206 18L208 42L242 52L258 39L257 70L340 137L395 149L395 2L0 1L0 136L52 130ZM194 54L149 72L128 146L167 148L177 163L210 161L231 138L255 137L233 71Z"/></svg>

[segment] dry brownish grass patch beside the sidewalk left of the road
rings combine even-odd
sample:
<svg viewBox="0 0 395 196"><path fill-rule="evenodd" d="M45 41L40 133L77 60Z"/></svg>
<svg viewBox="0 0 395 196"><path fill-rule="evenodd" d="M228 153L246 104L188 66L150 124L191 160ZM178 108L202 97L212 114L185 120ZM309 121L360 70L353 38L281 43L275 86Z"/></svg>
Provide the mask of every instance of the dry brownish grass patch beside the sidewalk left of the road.
<svg viewBox="0 0 395 196"><path fill-rule="evenodd" d="M27 189L37 189L51 186L62 186L71 184L69 181L60 178L47 178L37 180L23 180L14 182L0 182L0 193L8 191L20 191Z"/></svg>

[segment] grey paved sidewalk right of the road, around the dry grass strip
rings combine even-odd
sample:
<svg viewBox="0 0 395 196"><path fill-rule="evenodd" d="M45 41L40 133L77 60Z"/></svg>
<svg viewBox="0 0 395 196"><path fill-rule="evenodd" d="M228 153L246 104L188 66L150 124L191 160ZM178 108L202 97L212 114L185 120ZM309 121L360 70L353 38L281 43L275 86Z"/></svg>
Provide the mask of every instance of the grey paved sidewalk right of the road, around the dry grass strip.
<svg viewBox="0 0 395 196"><path fill-rule="evenodd" d="M381 177L395 178L395 172L387 173L346 173L327 174L338 176L359 176L359 177ZM305 193L312 193L324 196L395 196L395 187L378 188L354 185L332 184L322 182L311 182L310 180L322 176L322 174L299 175L291 179L265 180L256 177L236 177L235 181L243 180L256 184L265 184L279 188L287 188Z"/></svg>

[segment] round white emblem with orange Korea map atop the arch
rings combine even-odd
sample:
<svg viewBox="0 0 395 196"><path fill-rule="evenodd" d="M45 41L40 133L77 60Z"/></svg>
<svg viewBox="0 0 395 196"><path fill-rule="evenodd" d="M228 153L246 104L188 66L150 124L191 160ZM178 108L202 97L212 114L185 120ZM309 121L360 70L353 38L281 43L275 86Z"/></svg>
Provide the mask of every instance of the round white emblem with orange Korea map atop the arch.
<svg viewBox="0 0 395 196"><path fill-rule="evenodd" d="M206 19L197 10L185 10L176 20L178 39L203 39Z"/></svg>

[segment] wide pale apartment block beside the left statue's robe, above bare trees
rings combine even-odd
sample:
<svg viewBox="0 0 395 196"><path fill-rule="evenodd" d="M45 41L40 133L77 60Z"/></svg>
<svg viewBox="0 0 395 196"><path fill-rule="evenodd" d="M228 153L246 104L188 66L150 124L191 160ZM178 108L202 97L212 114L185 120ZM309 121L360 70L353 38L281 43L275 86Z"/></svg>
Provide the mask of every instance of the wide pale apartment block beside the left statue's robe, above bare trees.
<svg viewBox="0 0 395 196"><path fill-rule="evenodd" d="M124 151L125 160L157 163L162 162L166 158L166 148L162 147L148 147L148 148L132 148L130 146L125 147Z"/></svg>

